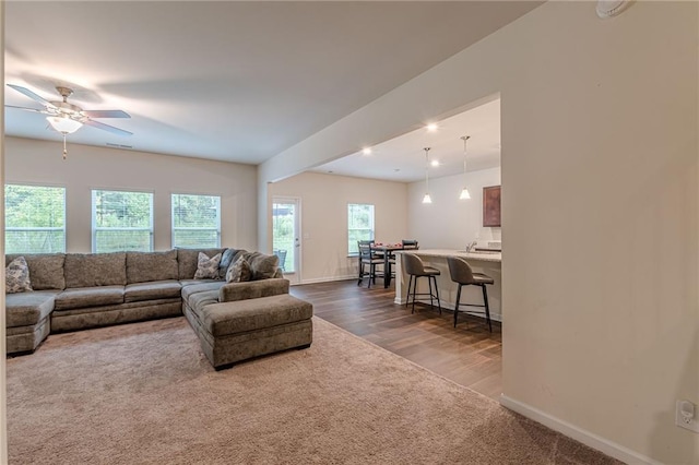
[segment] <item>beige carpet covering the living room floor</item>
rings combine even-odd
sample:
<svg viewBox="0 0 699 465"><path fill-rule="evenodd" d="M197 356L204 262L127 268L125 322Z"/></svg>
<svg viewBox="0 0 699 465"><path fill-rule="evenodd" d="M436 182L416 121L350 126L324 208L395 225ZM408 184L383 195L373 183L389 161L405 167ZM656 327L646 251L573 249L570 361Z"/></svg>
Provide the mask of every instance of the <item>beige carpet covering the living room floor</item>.
<svg viewBox="0 0 699 465"><path fill-rule="evenodd" d="M11 464L616 463L317 318L311 348L220 372L183 318L7 366Z"/></svg>

